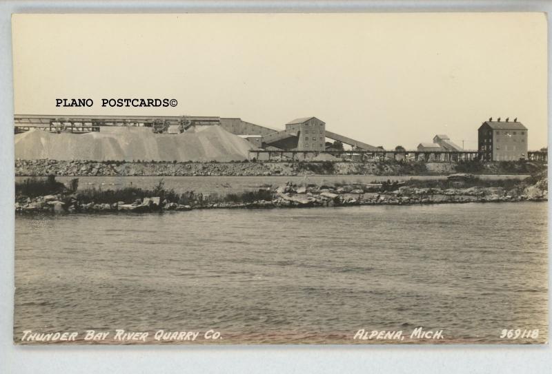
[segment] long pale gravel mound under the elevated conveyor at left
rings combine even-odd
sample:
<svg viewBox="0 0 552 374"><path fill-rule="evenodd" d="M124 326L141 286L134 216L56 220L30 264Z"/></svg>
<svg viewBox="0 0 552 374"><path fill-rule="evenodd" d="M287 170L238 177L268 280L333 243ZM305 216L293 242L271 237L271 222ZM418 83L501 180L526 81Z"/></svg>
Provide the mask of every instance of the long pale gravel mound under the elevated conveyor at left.
<svg viewBox="0 0 552 374"><path fill-rule="evenodd" d="M245 160L253 145L220 126L199 132L154 134L148 127L101 127L88 134L51 134L33 129L15 135L15 157L23 160Z"/></svg>

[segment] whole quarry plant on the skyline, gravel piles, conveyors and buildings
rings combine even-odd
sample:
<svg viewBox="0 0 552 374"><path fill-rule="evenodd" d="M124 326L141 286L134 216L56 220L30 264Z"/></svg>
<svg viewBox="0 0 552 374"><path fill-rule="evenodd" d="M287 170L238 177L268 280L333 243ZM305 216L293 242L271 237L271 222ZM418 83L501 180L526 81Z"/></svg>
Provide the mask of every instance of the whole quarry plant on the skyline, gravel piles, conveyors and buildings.
<svg viewBox="0 0 552 374"><path fill-rule="evenodd" d="M29 134L36 133L29 130L41 130L38 131L41 134ZM169 161L262 160L260 156L268 160L271 156L291 160L334 160L337 156L351 160L398 157L445 161L546 160L547 157L542 150L528 152L528 131L517 118L513 121L489 118L482 123L477 130L477 150L463 149L446 134L436 134L433 143L420 143L415 150L385 150L328 131L326 123L315 116L295 118L285 123L284 129L275 129L242 118L219 116L16 114L14 132L16 145L19 144L16 156L28 159L62 160L70 159L71 154L88 159L86 152L94 154L95 159ZM344 149L343 145L349 148Z"/></svg>

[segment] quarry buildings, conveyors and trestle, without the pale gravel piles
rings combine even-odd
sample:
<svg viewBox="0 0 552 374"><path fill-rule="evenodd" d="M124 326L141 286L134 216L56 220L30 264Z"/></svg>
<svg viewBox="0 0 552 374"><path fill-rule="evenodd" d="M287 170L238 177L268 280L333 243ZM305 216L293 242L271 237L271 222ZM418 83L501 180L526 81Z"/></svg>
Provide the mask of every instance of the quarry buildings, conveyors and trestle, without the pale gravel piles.
<svg viewBox="0 0 552 374"><path fill-rule="evenodd" d="M16 134L33 128L47 132L84 134L99 132L103 126L150 127L157 134L181 134L194 131L197 127L218 126L251 143L254 147L250 150L251 157L259 159L259 156L263 156L269 160L271 155L294 160L316 157L319 153L353 158L355 152L366 158L398 157L413 160L546 160L547 156L546 152L528 152L527 128L517 122L517 118L513 121L509 121L509 118L506 121L489 118L489 121L482 123L478 130L477 150L466 151L453 143L446 134L437 134L433 137L433 143L420 143L416 150L386 151L330 132L326 129L326 123L315 116L296 118L286 123L281 130L243 121L242 118L218 116L14 116ZM334 146L335 142L338 143ZM349 147L343 149L342 145Z"/></svg>

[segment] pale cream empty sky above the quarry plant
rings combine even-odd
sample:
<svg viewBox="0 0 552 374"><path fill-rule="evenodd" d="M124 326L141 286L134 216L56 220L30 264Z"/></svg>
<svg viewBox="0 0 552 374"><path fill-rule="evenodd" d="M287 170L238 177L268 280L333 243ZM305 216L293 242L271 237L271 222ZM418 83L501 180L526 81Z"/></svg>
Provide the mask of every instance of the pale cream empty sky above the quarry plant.
<svg viewBox="0 0 552 374"><path fill-rule="evenodd" d="M529 128L529 149L547 144L544 13L18 14L12 34L16 114L188 114L281 129L317 116L388 149L435 134L476 149L477 128L500 116Z"/></svg>

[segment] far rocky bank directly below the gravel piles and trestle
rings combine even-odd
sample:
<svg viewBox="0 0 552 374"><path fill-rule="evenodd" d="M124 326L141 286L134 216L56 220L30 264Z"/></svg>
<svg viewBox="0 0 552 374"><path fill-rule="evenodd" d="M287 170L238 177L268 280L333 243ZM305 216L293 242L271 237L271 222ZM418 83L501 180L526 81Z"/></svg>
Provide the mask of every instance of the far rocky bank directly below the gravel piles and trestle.
<svg viewBox="0 0 552 374"><path fill-rule="evenodd" d="M395 160L318 162L169 163L137 160L16 160L15 176L297 176L297 175L448 175L533 174L546 169L543 163L425 163Z"/></svg>

